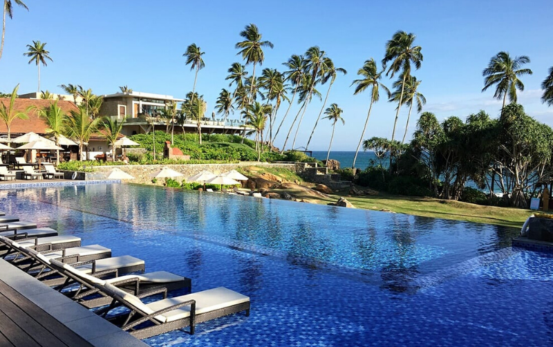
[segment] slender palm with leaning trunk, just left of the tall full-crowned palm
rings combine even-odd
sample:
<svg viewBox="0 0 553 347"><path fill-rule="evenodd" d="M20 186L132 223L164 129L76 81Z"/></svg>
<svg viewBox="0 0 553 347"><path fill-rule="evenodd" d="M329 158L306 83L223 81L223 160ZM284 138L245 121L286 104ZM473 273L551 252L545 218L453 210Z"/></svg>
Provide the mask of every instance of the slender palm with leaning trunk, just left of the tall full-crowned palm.
<svg viewBox="0 0 553 347"><path fill-rule="evenodd" d="M379 79L382 77L383 72L384 71L378 72L378 67L376 66L374 58L368 59L365 61L363 67L359 68L359 71L357 71L357 75L362 76L363 78L355 79L355 81L353 81L353 83L351 84L352 86L354 84L357 84L357 86L355 86L355 91L353 92L353 95L357 95L365 91L367 88L371 88L371 104L368 105L367 119L365 120L365 125L363 126L361 138L359 138L359 144L357 144L357 149L355 149L355 156L353 157L353 164L351 165L352 169L355 168L357 153L359 153L359 147L361 147L361 143L363 142L363 137L367 129L368 118L371 117L371 109L373 109L373 103L379 100L379 88L382 87L382 89L384 89L386 93L390 93L390 91L388 91L388 88L386 88L384 84L379 82Z"/></svg>

